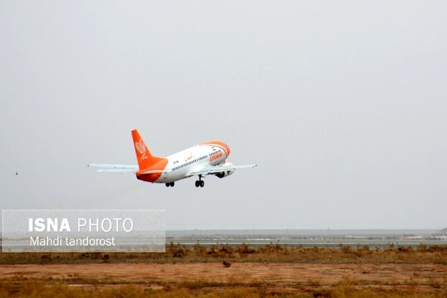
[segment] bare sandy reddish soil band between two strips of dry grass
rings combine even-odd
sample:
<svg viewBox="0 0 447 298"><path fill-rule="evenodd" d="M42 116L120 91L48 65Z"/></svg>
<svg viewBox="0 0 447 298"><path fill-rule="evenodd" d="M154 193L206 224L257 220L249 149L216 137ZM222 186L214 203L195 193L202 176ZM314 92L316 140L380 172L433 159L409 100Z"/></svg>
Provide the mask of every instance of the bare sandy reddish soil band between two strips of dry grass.
<svg viewBox="0 0 447 298"><path fill-rule="evenodd" d="M76 284L91 279L110 282L207 281L221 283L266 282L272 288L311 288L347 283L360 287L400 286L421 290L427 286L446 290L447 265L437 264L278 264L221 263L177 264L25 264L0 265L0 280L47 280Z"/></svg>

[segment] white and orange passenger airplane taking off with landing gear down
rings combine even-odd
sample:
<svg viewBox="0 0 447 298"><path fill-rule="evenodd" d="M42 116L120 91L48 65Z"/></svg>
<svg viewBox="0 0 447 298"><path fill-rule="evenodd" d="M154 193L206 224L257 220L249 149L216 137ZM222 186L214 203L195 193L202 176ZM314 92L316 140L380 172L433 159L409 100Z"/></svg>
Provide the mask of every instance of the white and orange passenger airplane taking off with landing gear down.
<svg viewBox="0 0 447 298"><path fill-rule="evenodd" d="M150 183L165 183L174 187L175 181L198 176L196 187L203 187L203 176L214 175L219 178L230 176L237 169L253 168L256 164L235 166L226 162L230 148L221 141L207 141L191 148L169 155L156 157L147 148L137 129L132 131L133 145L138 166L126 164L88 164L99 167L98 172L133 173L138 180Z"/></svg>

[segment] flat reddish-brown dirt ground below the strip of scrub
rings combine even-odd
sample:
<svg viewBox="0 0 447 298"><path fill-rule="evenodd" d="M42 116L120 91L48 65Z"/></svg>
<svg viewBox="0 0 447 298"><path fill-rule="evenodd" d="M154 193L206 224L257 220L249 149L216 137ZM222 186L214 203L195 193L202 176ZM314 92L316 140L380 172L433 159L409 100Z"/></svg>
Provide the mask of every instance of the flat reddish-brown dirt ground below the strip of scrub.
<svg viewBox="0 0 447 298"><path fill-rule="evenodd" d="M0 265L3 283L110 288L134 285L150 290L262 288L263 293L318 296L349 285L356 290L400 294L427 293L447 297L446 264L291 264L221 262L169 264L8 264ZM319 291L319 292L318 292ZM323 292L321 292L323 291Z"/></svg>

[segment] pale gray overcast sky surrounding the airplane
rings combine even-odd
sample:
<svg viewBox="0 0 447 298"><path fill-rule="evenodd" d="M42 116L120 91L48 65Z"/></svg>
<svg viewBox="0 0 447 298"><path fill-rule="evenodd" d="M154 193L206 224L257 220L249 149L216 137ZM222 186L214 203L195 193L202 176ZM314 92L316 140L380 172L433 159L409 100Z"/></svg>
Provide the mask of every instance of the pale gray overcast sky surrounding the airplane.
<svg viewBox="0 0 447 298"><path fill-rule="evenodd" d="M447 227L447 1L0 1L1 208L168 229ZM136 164L220 139L228 178ZM19 175L16 176L15 172Z"/></svg>

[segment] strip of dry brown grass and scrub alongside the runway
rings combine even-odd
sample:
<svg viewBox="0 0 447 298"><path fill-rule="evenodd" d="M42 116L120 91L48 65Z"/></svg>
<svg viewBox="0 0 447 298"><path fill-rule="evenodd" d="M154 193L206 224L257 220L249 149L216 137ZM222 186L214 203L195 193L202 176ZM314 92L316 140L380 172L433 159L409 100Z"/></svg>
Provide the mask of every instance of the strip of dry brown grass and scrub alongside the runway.
<svg viewBox="0 0 447 298"><path fill-rule="evenodd" d="M447 264L447 246L418 248L337 248L282 246L184 246L170 243L166 253L0 253L0 264L82 264L91 262L281 262L281 263L432 263Z"/></svg>

